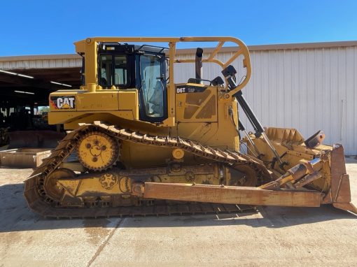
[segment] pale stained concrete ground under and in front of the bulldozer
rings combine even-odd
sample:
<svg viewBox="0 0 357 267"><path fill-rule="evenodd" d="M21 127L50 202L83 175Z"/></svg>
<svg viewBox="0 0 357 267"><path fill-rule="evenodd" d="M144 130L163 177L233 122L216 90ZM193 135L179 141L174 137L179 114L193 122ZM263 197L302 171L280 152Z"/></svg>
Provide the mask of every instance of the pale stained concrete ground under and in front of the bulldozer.
<svg viewBox="0 0 357 267"><path fill-rule="evenodd" d="M347 158L357 203L357 160ZM356 266L357 217L321 208L236 215L43 219L30 169L0 168L0 266Z"/></svg>

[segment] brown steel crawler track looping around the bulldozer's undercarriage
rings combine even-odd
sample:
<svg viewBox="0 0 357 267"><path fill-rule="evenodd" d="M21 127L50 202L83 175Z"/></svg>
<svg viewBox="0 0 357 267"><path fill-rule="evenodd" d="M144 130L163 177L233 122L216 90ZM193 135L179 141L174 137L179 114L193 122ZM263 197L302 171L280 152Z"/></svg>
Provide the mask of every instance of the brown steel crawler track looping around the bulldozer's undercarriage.
<svg viewBox="0 0 357 267"><path fill-rule="evenodd" d="M214 203L166 203L165 201L154 201L153 204L143 203L139 206L111 207L106 205L92 205L90 207L74 207L60 205L53 201L45 191L45 178L55 171L56 168L66 160L76 149L76 142L88 131L102 131L114 138L128 140L134 143L144 143L146 145L156 145L164 147L179 147L186 152L193 153L204 159L228 164L230 168L239 167L242 164L251 166L259 175L269 177L269 172L265 165L258 159L248 157L239 152L222 151L208 146L193 143L191 140L182 138L170 138L169 136L148 136L127 129L94 122L94 124L82 124L78 129L71 131L59 142L50 157L43 161L43 164L36 168L29 179L25 181L25 198L29 207L44 217L122 217L135 215L183 215L183 214L206 214L221 212L242 212L251 210L253 207L246 205L222 205Z"/></svg>

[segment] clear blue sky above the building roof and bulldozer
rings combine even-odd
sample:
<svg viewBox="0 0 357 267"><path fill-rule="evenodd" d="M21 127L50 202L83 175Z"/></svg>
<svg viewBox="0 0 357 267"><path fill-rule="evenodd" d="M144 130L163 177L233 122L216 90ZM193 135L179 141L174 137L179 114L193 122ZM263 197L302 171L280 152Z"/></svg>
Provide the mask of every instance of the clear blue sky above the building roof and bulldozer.
<svg viewBox="0 0 357 267"><path fill-rule="evenodd" d="M0 56L73 53L89 36L235 36L247 45L357 40L357 1L3 1Z"/></svg>

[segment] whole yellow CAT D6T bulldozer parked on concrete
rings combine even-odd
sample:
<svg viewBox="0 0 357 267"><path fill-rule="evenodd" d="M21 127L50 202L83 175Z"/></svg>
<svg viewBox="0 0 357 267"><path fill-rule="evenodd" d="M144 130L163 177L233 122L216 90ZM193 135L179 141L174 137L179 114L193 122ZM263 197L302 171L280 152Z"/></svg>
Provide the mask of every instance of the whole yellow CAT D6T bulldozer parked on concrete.
<svg viewBox="0 0 357 267"><path fill-rule="evenodd" d="M195 57L178 55L179 43L207 42L216 44L207 55L197 47ZM227 43L235 52L219 57ZM323 145L323 131L305 140L296 129L262 127L242 92L251 61L239 39L95 37L74 44L83 59L81 86L49 96L48 122L63 124L67 134L25 181L34 212L72 218L332 204L357 213L341 144ZM194 78L175 83L179 64L195 64ZM204 64L221 72L204 79Z"/></svg>

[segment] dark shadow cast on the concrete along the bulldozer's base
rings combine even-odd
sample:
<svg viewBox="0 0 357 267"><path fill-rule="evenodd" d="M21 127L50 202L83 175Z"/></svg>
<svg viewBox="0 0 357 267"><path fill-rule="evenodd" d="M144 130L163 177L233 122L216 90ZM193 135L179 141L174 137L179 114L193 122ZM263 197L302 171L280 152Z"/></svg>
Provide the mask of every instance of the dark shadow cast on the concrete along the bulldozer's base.
<svg viewBox="0 0 357 267"><path fill-rule="evenodd" d="M44 229L74 229L85 227L113 227L114 220L45 219L27 207L23 196L24 184L0 186L0 233L37 231ZM260 207L259 212L238 214L210 214L190 216L127 217L120 227L192 227L248 225L251 227L283 228L335 219L357 219L356 215L323 205L320 208Z"/></svg>

